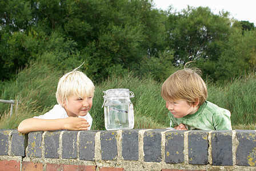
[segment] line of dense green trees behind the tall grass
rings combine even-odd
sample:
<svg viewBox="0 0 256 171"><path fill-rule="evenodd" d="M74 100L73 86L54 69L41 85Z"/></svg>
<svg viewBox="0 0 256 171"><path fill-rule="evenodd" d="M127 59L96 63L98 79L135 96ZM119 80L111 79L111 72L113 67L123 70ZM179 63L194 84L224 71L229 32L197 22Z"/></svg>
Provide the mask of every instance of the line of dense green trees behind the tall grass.
<svg viewBox="0 0 256 171"><path fill-rule="evenodd" d="M209 7L155 9L151 0L0 0L0 80L47 63L94 82L133 72L162 81L183 64L223 83L255 72L254 24Z"/></svg>

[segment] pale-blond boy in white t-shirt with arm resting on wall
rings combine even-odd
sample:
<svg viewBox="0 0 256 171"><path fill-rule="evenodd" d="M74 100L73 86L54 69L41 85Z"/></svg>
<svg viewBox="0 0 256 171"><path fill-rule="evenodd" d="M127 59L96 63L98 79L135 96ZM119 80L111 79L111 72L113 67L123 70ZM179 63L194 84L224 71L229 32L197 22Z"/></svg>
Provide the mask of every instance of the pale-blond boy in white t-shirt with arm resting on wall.
<svg viewBox="0 0 256 171"><path fill-rule="evenodd" d="M19 132L91 128L93 119L89 111L93 105L94 84L83 72L76 70L59 79L56 92L58 104L44 115L23 120L18 126Z"/></svg>

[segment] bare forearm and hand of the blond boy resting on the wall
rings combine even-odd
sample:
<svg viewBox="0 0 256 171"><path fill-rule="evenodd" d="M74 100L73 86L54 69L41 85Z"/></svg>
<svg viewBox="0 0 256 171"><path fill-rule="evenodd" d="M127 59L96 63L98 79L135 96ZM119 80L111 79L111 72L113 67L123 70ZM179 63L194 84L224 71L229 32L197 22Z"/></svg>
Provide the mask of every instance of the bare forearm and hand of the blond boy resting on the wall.
<svg viewBox="0 0 256 171"><path fill-rule="evenodd" d="M90 125L81 117L67 117L63 119L38 119L29 118L23 120L18 131L21 133L29 133L32 131L55 131L61 129L67 130L87 130Z"/></svg>

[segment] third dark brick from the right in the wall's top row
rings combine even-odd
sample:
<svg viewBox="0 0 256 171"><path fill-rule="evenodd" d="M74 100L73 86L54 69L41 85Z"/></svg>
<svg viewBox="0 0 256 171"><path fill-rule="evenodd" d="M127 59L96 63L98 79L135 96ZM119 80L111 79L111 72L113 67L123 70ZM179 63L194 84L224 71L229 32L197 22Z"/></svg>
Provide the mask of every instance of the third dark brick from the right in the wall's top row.
<svg viewBox="0 0 256 171"><path fill-rule="evenodd" d="M189 132L189 164L208 163L208 132Z"/></svg>

